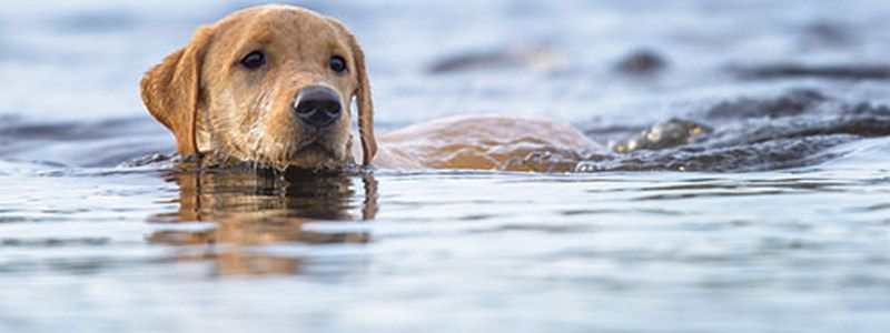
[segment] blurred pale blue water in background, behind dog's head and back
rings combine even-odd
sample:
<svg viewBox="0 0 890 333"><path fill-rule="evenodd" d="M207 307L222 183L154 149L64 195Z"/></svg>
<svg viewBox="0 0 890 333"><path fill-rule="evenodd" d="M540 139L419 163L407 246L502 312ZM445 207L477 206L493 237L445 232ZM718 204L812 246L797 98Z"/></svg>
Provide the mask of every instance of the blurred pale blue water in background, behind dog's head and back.
<svg viewBox="0 0 890 333"><path fill-rule="evenodd" d="M259 3L4 2L0 114L142 117L138 82L146 70L186 44L199 24ZM843 97L887 99L882 82L764 82L738 80L731 70L887 63L890 2L884 1L290 3L335 17L357 33L384 128L454 113L653 122L701 101L789 85L828 84Z"/></svg>

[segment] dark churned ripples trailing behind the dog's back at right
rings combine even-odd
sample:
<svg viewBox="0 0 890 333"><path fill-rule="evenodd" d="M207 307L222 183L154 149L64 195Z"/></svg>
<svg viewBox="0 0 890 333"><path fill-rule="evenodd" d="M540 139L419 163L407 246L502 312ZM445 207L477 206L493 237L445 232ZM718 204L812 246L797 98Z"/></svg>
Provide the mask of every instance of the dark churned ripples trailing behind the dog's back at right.
<svg viewBox="0 0 890 333"><path fill-rule="evenodd" d="M585 132L594 139L609 137L609 149L586 154L532 152L502 169L749 172L811 167L848 153L834 149L844 143L890 135L890 108L790 90L719 102L635 134L634 129L615 127Z"/></svg>

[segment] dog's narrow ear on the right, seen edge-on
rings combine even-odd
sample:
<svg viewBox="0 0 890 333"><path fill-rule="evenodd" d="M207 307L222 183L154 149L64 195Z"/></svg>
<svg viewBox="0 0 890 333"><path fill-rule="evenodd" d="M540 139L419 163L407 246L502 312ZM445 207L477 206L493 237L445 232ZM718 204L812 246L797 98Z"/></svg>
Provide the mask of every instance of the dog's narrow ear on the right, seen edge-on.
<svg viewBox="0 0 890 333"><path fill-rule="evenodd" d="M377 141L374 139L374 103L370 100L370 82L365 67L365 52L358 46L355 36L346 29L346 26L335 19L329 19L334 27L349 43L353 51L354 70L358 78L358 87L354 95L358 104L358 132L362 135L362 164L370 165L374 155L377 154Z"/></svg>

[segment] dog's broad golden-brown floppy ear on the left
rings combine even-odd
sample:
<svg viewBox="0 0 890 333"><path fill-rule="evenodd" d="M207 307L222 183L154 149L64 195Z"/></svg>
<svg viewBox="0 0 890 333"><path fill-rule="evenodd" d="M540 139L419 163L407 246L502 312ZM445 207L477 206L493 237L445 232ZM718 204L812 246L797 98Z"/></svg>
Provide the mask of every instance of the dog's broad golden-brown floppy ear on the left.
<svg viewBox="0 0 890 333"><path fill-rule="evenodd" d="M201 65L211 29L198 29L188 46L167 57L142 77L142 102L176 137L180 155L198 154L196 121L200 104Z"/></svg>

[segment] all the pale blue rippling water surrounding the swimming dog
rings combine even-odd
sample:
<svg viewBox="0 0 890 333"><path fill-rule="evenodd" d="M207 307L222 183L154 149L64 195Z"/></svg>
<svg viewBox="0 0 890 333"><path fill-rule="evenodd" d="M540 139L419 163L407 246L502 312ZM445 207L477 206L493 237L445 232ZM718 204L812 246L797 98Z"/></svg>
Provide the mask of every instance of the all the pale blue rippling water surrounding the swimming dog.
<svg viewBox="0 0 890 333"><path fill-rule="evenodd" d="M0 331L890 326L890 3L306 2L365 46L379 131L703 131L540 161L572 173L176 164L138 80L251 3L0 4Z"/></svg>

